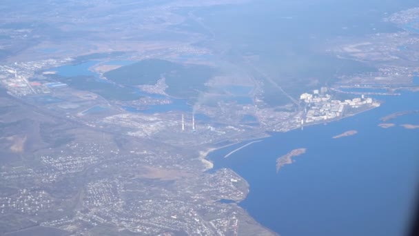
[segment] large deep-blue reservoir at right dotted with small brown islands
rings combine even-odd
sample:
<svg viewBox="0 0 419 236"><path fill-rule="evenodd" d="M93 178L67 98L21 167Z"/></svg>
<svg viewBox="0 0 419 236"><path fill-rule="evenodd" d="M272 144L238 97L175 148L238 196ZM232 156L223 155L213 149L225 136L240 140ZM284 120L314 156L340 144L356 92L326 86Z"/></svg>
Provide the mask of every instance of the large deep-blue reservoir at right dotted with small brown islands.
<svg viewBox="0 0 419 236"><path fill-rule="evenodd" d="M419 93L381 97L385 104L360 115L304 130L276 133L224 159L238 144L210 154L215 168L232 168L250 185L241 202L260 224L282 235L404 235L419 173ZM406 120L407 119L407 120ZM351 137L332 139L347 130ZM245 142L247 143L247 142ZM295 148L305 155L276 173L276 159Z"/></svg>

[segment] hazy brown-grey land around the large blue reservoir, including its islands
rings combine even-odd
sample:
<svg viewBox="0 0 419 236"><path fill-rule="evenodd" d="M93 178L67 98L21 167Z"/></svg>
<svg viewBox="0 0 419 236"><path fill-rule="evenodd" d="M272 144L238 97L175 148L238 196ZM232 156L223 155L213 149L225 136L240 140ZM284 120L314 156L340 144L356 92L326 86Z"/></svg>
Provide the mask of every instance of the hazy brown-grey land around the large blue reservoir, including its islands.
<svg viewBox="0 0 419 236"><path fill-rule="evenodd" d="M418 91L414 7L2 1L0 235L281 233L238 204L243 177L205 158Z"/></svg>

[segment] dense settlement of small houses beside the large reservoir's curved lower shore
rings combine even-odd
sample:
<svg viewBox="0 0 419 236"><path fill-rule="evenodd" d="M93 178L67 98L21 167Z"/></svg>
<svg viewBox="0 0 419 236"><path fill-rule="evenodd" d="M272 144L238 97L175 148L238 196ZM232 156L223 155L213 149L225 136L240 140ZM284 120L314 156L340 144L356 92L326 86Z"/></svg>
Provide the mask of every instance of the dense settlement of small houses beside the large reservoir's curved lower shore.
<svg viewBox="0 0 419 236"><path fill-rule="evenodd" d="M164 183L160 181L147 183L133 177L99 179L85 186L82 207L73 217L54 219L42 225L74 230L115 224L144 235L165 232L238 235L240 222L235 205L221 206L213 202L220 196L243 199L243 190L233 186L243 184L242 180L231 170L223 169L203 181L194 186L185 179L176 181L172 188L161 188Z"/></svg>

